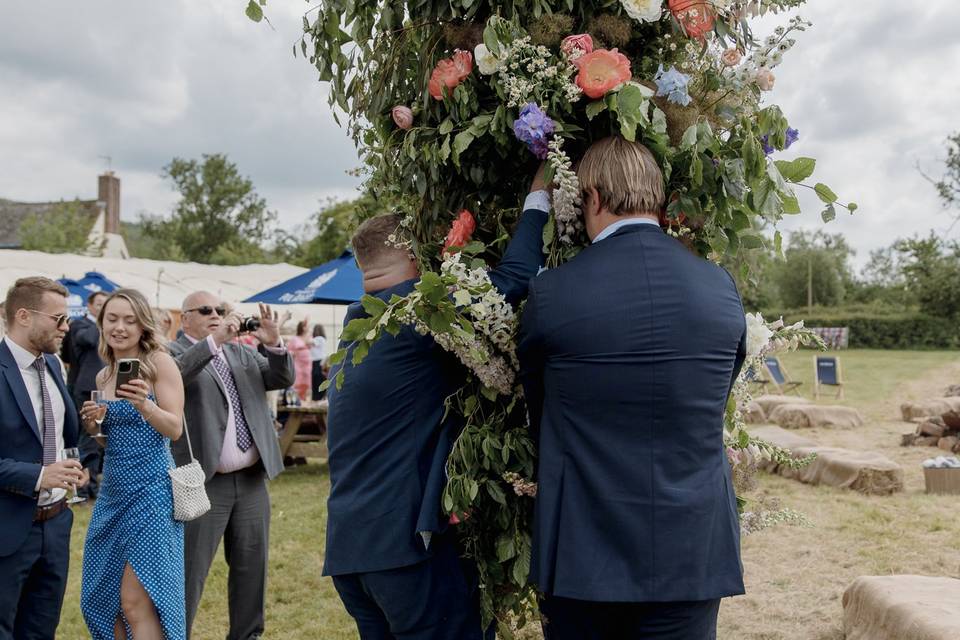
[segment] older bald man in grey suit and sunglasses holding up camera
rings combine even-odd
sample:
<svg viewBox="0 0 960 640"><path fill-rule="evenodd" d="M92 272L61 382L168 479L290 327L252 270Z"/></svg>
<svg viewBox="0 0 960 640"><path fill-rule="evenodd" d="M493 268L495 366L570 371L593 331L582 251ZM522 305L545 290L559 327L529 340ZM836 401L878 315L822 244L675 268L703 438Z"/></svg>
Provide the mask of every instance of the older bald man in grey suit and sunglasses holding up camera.
<svg viewBox="0 0 960 640"><path fill-rule="evenodd" d="M187 429L211 504L206 515L187 523L184 535L187 629L223 538L230 567L227 640L259 638L270 530L266 481L283 470L266 392L293 384L293 358L266 305L260 305L260 327L253 334L266 356L234 340L242 318L227 314L212 293L190 294L182 311L183 335L170 343L170 352L183 375ZM174 446L178 461L187 459L186 449L186 438L180 438Z"/></svg>

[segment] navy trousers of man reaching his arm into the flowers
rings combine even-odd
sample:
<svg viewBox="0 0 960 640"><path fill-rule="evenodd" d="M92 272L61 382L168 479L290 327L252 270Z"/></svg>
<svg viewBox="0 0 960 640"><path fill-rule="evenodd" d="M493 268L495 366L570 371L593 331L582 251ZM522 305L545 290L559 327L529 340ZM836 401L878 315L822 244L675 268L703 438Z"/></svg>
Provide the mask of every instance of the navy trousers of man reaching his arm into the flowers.
<svg viewBox="0 0 960 640"><path fill-rule="evenodd" d="M436 546L434 546L436 545ZM434 555L399 569L333 576L361 640L484 640L476 570L447 536Z"/></svg>

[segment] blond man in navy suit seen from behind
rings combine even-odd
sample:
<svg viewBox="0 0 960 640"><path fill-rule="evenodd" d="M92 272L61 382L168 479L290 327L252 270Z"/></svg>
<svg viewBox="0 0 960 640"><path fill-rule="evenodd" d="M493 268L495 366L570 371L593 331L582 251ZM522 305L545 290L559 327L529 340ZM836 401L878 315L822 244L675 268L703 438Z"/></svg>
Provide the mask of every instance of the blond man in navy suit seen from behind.
<svg viewBox="0 0 960 640"><path fill-rule="evenodd" d="M539 436L544 634L712 639L720 598L744 592L723 446L740 297L660 230L646 147L603 139L577 174L593 244L531 283L518 352Z"/></svg>

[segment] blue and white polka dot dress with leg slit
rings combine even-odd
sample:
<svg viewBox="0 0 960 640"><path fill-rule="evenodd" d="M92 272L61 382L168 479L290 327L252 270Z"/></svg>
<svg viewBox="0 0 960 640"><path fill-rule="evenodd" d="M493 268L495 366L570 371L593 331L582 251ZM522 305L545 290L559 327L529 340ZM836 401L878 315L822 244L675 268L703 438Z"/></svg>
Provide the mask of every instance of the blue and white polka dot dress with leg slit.
<svg viewBox="0 0 960 640"><path fill-rule="evenodd" d="M173 519L169 441L127 400L107 405L103 482L83 548L80 608L94 640L113 640L120 579L130 563L167 640L184 640L183 524Z"/></svg>

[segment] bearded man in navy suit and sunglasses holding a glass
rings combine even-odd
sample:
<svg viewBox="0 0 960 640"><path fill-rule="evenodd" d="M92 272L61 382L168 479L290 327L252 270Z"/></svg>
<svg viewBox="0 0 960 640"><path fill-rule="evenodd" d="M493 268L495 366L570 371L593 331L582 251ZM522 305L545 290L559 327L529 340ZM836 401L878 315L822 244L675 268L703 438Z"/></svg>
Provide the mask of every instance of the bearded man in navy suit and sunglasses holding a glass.
<svg viewBox="0 0 960 640"><path fill-rule="evenodd" d="M67 331L67 290L21 278L7 293L0 342L0 637L53 638L67 586L73 514L65 497L87 472L74 407L52 355Z"/></svg>

